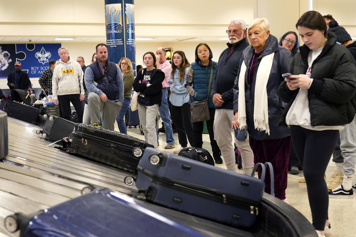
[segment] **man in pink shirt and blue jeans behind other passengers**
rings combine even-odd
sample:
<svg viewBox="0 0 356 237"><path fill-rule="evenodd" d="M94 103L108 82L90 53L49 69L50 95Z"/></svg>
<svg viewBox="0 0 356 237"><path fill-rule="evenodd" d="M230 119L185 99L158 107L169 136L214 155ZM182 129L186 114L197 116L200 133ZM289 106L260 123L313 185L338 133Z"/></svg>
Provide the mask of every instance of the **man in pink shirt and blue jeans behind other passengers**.
<svg viewBox="0 0 356 237"><path fill-rule="evenodd" d="M166 131L166 142L167 146L164 149L172 149L175 147L173 130L171 124L171 117L169 116L169 107L168 107L168 76L171 72L172 65L166 60L166 50L162 47L156 50L156 64L157 68L161 69L164 72L164 80L162 82L162 102L161 106L158 108L159 114L163 121L164 130Z"/></svg>

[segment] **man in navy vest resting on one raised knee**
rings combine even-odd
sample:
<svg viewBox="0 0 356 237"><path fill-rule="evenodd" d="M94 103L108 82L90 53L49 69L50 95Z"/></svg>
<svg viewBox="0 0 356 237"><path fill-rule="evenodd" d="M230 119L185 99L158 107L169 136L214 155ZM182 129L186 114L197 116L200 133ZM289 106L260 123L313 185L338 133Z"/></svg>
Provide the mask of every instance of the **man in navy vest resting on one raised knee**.
<svg viewBox="0 0 356 237"><path fill-rule="evenodd" d="M90 123L114 131L117 114L124 102L124 82L119 66L108 61L106 44L96 45L98 58L85 70Z"/></svg>

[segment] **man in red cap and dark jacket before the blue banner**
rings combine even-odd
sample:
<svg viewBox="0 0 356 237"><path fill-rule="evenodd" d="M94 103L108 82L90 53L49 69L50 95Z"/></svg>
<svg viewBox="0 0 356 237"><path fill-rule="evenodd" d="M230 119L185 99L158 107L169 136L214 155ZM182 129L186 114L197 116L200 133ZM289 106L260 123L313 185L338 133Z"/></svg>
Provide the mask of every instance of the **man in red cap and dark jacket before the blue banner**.
<svg viewBox="0 0 356 237"><path fill-rule="evenodd" d="M10 90L21 89L21 90L29 90L31 93L31 81L28 77L27 72L21 70L21 63L15 63L15 71L11 72L7 77L7 85Z"/></svg>

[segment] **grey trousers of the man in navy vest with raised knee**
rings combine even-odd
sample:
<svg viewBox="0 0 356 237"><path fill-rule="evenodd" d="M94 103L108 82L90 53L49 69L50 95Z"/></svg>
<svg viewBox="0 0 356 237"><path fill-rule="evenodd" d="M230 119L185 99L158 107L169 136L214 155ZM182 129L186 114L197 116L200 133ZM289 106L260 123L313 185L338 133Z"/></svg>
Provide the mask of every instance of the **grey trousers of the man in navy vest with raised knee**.
<svg viewBox="0 0 356 237"><path fill-rule="evenodd" d="M103 127L105 129L114 131L116 117L120 108L120 102L115 103L109 99L106 102L103 102L101 101L99 95L95 92L89 92L88 94L88 109L91 124L100 122L101 113L101 121L103 122Z"/></svg>

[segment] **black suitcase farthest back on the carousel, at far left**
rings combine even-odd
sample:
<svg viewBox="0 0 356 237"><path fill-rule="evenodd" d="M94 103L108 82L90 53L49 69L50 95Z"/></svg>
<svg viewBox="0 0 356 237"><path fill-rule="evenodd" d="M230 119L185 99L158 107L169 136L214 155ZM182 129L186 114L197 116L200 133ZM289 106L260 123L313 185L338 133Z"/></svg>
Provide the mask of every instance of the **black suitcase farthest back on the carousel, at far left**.
<svg viewBox="0 0 356 237"><path fill-rule="evenodd" d="M27 123L37 124L41 110L26 104L7 100L4 105L4 111L7 116L25 121Z"/></svg>

